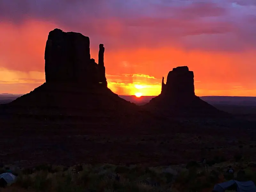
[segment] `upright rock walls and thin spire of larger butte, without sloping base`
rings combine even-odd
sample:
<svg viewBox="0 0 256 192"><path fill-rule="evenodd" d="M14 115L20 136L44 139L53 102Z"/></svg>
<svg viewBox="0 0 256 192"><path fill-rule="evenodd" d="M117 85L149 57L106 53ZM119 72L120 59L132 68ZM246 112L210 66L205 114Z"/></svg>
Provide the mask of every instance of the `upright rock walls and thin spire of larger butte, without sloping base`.
<svg viewBox="0 0 256 192"><path fill-rule="evenodd" d="M104 47L100 44L99 65L91 59L90 39L81 33L54 29L45 46L46 82L74 82L83 86L107 86Z"/></svg>

